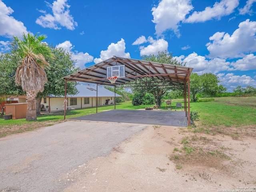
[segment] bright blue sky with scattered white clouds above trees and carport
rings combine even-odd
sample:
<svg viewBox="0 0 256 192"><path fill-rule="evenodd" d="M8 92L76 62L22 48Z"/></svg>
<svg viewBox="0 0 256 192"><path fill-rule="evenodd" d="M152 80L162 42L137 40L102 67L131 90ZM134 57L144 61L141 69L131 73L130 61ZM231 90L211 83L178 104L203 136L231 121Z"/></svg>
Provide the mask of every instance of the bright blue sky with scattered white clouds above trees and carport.
<svg viewBox="0 0 256 192"><path fill-rule="evenodd" d="M22 32L45 34L81 69L168 50L230 92L256 87L256 0L0 0L0 52Z"/></svg>

